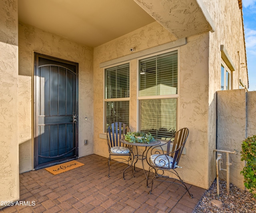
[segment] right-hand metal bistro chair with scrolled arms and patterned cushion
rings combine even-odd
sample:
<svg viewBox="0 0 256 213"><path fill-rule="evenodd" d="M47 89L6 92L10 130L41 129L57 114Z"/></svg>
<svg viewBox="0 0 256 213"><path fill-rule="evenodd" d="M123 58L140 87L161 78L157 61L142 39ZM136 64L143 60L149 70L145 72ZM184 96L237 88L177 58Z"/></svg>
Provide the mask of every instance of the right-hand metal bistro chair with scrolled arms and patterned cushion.
<svg viewBox="0 0 256 213"><path fill-rule="evenodd" d="M184 189L186 189L190 197L193 197L193 195L188 191L188 188L184 184L183 180L178 175L178 172L175 170L176 168L182 168L178 166L178 163L188 138L188 133L188 128L180 129L168 142L158 146L150 147L150 149L148 149L146 154L146 156L149 156L149 159L147 159L148 164L150 165L148 172L152 171L150 193L152 192L154 181L162 181L175 183L182 186ZM172 150L170 151L171 144ZM163 145L167 145L166 151L164 150ZM170 177L168 175L170 172L176 176Z"/></svg>

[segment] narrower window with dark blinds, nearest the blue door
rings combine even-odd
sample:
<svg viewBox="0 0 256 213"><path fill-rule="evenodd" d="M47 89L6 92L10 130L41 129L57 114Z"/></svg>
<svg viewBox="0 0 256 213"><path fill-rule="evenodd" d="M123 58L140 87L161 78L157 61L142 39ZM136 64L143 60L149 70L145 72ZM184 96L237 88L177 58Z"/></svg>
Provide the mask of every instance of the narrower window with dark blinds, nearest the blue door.
<svg viewBox="0 0 256 213"><path fill-rule="evenodd" d="M111 123L129 125L130 64L105 69L105 131Z"/></svg>

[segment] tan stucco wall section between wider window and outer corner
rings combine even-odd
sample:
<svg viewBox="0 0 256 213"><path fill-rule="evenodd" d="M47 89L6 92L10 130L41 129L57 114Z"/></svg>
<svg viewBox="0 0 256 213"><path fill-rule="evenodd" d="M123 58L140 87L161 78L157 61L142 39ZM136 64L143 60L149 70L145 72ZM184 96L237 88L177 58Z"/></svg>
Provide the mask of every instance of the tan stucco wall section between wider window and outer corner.
<svg viewBox="0 0 256 213"><path fill-rule="evenodd" d="M208 33L188 38L180 48L180 128L190 130L180 166L185 182L208 188ZM214 177L210 177L214 178Z"/></svg>

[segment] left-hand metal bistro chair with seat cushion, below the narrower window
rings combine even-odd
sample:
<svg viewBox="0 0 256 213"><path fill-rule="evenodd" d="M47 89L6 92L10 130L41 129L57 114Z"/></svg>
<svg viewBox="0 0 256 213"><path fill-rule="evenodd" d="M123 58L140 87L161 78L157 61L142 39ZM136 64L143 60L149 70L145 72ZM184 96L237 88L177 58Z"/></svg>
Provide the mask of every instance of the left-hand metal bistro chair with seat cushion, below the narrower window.
<svg viewBox="0 0 256 213"><path fill-rule="evenodd" d="M109 151L109 157L108 157L108 177L110 177L110 168L118 163L128 163L128 168L132 168L132 163L134 160L134 155L132 152L132 146L131 145L124 145L120 142L120 139L124 137L124 134L130 131L130 128L128 125L122 122L115 122L109 125L108 131L107 131L107 141L108 141L108 151ZM118 161L116 161L118 160ZM112 165L110 163L114 161ZM126 171L124 169L124 172ZM124 178L124 172L123 172L123 178ZM132 176L133 175L133 169L132 169Z"/></svg>

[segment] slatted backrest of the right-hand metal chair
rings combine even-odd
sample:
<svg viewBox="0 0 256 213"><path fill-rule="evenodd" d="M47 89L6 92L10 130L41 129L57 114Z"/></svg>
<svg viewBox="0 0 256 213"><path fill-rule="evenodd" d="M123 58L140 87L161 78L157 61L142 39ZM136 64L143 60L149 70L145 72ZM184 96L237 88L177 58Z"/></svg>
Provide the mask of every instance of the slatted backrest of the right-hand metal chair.
<svg viewBox="0 0 256 213"><path fill-rule="evenodd" d="M167 142L166 153L167 155L170 155L174 159L173 163L176 162L176 165L178 165L180 161L182 151L188 139L188 133L189 133L188 128L182 128L179 131L177 131L175 135ZM171 143L173 143L172 150L170 150Z"/></svg>

